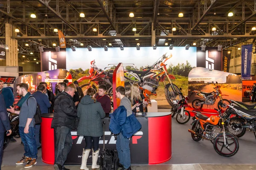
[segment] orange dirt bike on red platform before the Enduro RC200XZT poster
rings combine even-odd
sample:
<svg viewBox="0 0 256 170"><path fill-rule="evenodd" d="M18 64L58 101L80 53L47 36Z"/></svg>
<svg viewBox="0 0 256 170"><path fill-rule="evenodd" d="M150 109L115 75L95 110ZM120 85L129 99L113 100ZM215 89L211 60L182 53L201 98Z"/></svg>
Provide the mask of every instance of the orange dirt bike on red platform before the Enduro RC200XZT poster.
<svg viewBox="0 0 256 170"><path fill-rule="evenodd" d="M192 91L192 94L195 93L202 98L202 99L193 100L192 107L194 109L197 109L197 110L202 109L203 105L213 105L218 98L220 99L220 101L218 102L218 109L223 109L223 110L227 109L227 105L230 105L230 101L227 99L223 99L222 96L228 96L228 95L221 94L221 90L220 90L221 87L218 86L218 82L216 82L216 84L214 85L215 85L215 88L214 88L215 91L212 91L211 93L206 93L206 92L201 92L196 90Z"/></svg>

